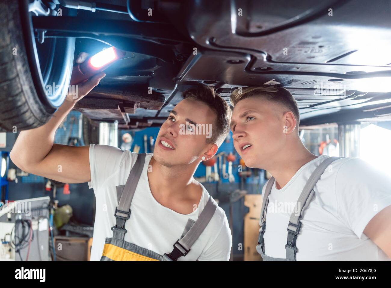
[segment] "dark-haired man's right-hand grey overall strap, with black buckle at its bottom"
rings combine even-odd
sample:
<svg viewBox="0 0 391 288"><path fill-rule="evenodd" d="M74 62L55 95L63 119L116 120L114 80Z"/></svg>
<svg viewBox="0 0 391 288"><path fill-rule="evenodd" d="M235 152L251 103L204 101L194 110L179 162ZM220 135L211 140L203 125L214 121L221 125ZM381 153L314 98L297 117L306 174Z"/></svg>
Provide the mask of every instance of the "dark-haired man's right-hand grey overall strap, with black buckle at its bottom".
<svg viewBox="0 0 391 288"><path fill-rule="evenodd" d="M204 231L205 227L208 225L212 219L215 211L217 209L217 204L213 202L211 196L209 196L208 203L206 203L203 211L198 216L197 220L187 231L185 236L175 242L174 250L170 254L164 254L165 257L168 257L172 261L176 261L181 256L186 256L190 251L190 248L193 246L194 242L199 238L199 236ZM187 225L191 225L191 222L188 221Z"/></svg>

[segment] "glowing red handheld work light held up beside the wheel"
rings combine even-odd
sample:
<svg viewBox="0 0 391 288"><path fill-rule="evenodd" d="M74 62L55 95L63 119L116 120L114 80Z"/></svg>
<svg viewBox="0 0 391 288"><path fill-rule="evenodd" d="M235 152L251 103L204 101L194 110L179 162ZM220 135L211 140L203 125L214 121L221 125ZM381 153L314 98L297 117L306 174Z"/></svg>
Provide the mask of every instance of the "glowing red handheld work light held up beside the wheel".
<svg viewBox="0 0 391 288"><path fill-rule="evenodd" d="M83 63L77 63L74 65L70 84L74 85L90 78L124 56L125 51L116 49L113 46L100 51Z"/></svg>

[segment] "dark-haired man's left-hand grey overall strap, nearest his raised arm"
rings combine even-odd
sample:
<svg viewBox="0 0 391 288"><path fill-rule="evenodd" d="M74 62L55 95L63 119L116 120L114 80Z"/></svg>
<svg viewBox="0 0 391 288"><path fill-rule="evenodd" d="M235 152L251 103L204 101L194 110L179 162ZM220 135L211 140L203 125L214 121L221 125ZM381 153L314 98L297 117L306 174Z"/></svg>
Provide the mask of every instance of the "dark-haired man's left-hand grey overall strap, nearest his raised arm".
<svg viewBox="0 0 391 288"><path fill-rule="evenodd" d="M125 222L130 218L130 205L136 191L138 180L140 179L145 163L145 153L137 155L135 165L133 165L129 177L126 180L125 187L122 191L117 208L115 208L114 216L116 218L115 226L111 227L113 230L113 238L124 239L126 229Z"/></svg>

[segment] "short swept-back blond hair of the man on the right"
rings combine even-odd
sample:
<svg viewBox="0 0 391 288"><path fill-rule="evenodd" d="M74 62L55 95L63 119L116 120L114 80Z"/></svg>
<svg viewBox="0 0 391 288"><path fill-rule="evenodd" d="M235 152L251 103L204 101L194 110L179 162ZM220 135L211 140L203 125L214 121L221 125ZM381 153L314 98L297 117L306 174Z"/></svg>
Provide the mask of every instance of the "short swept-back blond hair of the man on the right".
<svg viewBox="0 0 391 288"><path fill-rule="evenodd" d="M241 87L240 87L241 88ZM299 132L300 124L300 112L297 106L296 100L291 93L285 88L277 87L273 85L262 85L262 86L249 86L242 89L236 89L231 93L231 104L233 107L243 99L249 97L265 97L265 99L277 103L285 108L289 109L296 118L296 128ZM240 91L242 90L242 91Z"/></svg>

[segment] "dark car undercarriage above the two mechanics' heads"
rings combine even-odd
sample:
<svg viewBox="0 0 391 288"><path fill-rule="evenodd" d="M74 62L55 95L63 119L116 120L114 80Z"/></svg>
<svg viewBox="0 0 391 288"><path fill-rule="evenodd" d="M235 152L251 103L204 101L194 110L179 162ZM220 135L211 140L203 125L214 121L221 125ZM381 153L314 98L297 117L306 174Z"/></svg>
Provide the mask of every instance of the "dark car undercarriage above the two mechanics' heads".
<svg viewBox="0 0 391 288"><path fill-rule="evenodd" d="M75 106L93 121L118 121L122 129L160 126L196 83L214 86L228 102L238 87L283 86L298 102L303 126L391 115L389 1L19 4L29 9L21 13L30 21L24 37L39 99L51 84L43 76L61 63L69 69L74 54L110 46L129 54ZM28 29L35 43L26 40Z"/></svg>

